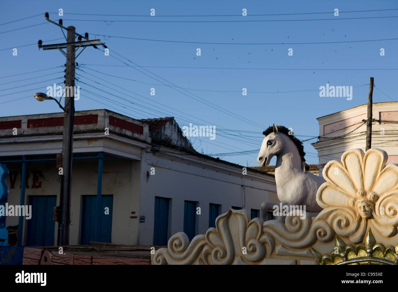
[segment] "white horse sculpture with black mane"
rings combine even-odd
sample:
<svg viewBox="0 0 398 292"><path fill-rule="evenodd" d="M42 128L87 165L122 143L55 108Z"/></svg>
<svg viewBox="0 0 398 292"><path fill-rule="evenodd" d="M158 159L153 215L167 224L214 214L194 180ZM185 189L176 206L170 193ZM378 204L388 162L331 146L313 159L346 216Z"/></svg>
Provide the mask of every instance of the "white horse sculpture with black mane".
<svg viewBox="0 0 398 292"><path fill-rule="evenodd" d="M293 136L293 132L284 126L270 126L263 132L265 138L261 144L257 162L267 166L276 155L275 181L279 201L284 205L306 206L306 212L320 212L316 203L316 192L325 180L307 170L302 142ZM261 218L266 220L267 211L279 203L263 203Z"/></svg>

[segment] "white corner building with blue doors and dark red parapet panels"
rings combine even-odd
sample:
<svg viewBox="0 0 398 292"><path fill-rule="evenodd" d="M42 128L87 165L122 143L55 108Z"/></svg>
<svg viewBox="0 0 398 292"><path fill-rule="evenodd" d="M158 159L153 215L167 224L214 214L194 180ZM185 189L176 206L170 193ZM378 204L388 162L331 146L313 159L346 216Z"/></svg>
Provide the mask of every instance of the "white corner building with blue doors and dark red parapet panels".
<svg viewBox="0 0 398 292"><path fill-rule="evenodd" d="M7 203L32 207L31 219L23 217L21 245L57 245L53 209L60 205L62 129L60 113L0 118L0 163L10 171ZM264 201L278 201L272 175L197 153L174 118L135 120L109 110L75 113L71 245L162 246L180 231L189 239L205 234L230 207L259 217ZM15 225L18 217L6 217L6 226Z"/></svg>

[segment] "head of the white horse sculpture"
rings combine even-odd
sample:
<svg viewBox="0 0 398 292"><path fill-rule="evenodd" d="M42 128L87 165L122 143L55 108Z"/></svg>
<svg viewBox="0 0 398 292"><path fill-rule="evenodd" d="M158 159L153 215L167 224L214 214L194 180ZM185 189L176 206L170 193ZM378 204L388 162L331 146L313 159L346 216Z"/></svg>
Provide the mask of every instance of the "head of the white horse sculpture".
<svg viewBox="0 0 398 292"><path fill-rule="evenodd" d="M267 166L271 158L281 153L283 150L283 141L281 135L278 134L278 128L273 124L272 132L265 136L261 149L258 154L257 162L261 166Z"/></svg>

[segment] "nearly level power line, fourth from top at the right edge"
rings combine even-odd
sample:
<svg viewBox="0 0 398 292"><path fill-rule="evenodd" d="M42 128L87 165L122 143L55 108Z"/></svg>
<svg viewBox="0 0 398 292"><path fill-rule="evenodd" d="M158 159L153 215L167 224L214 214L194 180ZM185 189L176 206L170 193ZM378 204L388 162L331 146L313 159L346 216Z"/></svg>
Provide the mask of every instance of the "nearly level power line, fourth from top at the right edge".
<svg viewBox="0 0 398 292"><path fill-rule="evenodd" d="M117 54L115 51L113 51ZM124 58L124 57L123 57ZM117 58L116 58L117 59ZM118 59L117 59L118 60ZM122 61L123 62L123 61ZM126 63L125 63L126 64ZM398 68L370 68L370 69L314 69L314 68L236 68L236 67L182 67L182 66L130 66L130 65L102 65L102 64L81 64L82 66L112 66L112 67L140 67L140 68L180 68L180 69L227 69L227 70L308 70L308 71L363 71L363 70L398 70ZM170 86L170 85L167 85ZM178 87L178 86L177 86ZM181 87L179 87L181 88Z"/></svg>

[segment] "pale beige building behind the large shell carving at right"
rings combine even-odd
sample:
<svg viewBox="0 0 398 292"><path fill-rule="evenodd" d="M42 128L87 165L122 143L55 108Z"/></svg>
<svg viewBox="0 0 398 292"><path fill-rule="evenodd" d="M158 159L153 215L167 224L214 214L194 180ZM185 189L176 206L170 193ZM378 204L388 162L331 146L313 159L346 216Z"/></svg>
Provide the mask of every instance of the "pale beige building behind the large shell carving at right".
<svg viewBox="0 0 398 292"><path fill-rule="evenodd" d="M372 147L387 152L388 161L398 163L398 102L373 104ZM320 139L312 143L318 151L319 174L331 160L340 161L344 151L366 146L367 104L317 118Z"/></svg>

